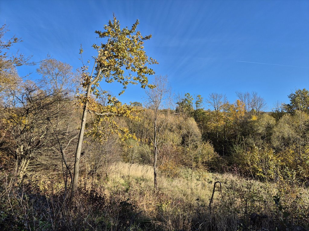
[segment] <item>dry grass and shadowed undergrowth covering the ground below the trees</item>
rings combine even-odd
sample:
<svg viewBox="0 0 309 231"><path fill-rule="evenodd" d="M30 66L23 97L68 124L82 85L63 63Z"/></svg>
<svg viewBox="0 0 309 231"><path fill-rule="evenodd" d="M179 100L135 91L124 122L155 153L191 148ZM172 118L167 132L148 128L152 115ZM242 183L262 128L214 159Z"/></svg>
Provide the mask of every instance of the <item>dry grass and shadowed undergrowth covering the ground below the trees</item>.
<svg viewBox="0 0 309 231"><path fill-rule="evenodd" d="M1 230L308 230L308 188L261 183L232 174L180 169L159 177L148 165L119 162L105 179L83 177L77 197L65 198L54 176L19 180L1 172ZM214 182L215 189L209 207Z"/></svg>

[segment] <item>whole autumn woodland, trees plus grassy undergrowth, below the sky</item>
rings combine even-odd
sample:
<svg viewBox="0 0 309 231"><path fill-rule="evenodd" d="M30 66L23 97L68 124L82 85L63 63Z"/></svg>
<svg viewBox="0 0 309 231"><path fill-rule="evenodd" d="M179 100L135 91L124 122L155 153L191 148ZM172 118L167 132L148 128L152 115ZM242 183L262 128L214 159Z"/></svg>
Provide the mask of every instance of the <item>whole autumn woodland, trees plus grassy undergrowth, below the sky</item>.
<svg viewBox="0 0 309 231"><path fill-rule="evenodd" d="M173 93L138 23L114 16L78 70L13 55L1 27L0 229L309 230L306 86L272 110L254 91Z"/></svg>

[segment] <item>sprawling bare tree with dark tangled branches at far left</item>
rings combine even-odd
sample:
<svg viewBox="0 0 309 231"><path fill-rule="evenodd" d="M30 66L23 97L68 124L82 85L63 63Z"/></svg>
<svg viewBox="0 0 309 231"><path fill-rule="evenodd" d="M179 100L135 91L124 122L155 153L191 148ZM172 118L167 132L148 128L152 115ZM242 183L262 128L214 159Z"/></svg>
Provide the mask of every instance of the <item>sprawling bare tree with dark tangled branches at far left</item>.
<svg viewBox="0 0 309 231"><path fill-rule="evenodd" d="M50 121L55 120L60 111L55 107L55 98L31 81L11 90L10 95L2 111L10 134L2 140L0 148L15 158L19 175L23 176L28 168L38 164L36 160L41 153L49 151L46 144L53 133Z"/></svg>

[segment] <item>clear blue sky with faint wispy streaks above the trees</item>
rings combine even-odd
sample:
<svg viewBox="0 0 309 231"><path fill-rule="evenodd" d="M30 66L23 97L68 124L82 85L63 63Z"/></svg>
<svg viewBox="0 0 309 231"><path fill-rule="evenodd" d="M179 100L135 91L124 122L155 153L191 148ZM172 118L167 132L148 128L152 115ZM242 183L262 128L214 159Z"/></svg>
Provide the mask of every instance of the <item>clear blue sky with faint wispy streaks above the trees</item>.
<svg viewBox="0 0 309 231"><path fill-rule="evenodd" d="M0 23L11 30L7 38L23 39L21 52L33 61L49 53L74 69L81 66L80 44L91 59L94 31L113 13L121 26L139 19L138 30L152 34L146 53L175 92L204 99L218 92L234 102L235 91L257 91L271 109L295 89L309 89L309 1L0 1ZM36 79L35 69L19 73ZM121 89L103 86L114 94ZM143 94L129 86L120 99L141 102Z"/></svg>

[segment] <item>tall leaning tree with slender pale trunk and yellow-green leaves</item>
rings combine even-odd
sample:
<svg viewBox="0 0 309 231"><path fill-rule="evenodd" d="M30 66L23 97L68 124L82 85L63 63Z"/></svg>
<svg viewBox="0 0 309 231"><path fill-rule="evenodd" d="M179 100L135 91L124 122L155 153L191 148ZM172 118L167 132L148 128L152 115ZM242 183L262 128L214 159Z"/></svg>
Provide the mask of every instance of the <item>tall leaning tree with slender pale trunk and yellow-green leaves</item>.
<svg viewBox="0 0 309 231"><path fill-rule="evenodd" d="M143 43L151 38L151 35L142 36L137 31L138 20L133 24L131 29L125 27L120 28L120 23L115 15L113 21L109 21L104 26L104 31L95 31L99 38L104 39L100 44L94 44L93 48L98 55L94 57L94 65L91 73L88 72L88 66L82 67L82 85L86 93L81 95L83 102L82 124L78 137L76 148L74 179L72 184L72 195L74 195L78 186L79 160L82 151L83 137L85 133L85 125L87 112L93 112L99 116L107 117L109 115L128 115L130 107L123 106L115 97L108 95L109 105L102 107L95 102L94 99L99 98L100 94L106 93L99 91L99 82L105 80L107 83L117 81L123 85L122 94L129 83L140 83L142 88L154 87L148 84L147 75L153 75L155 72L149 68L148 64L157 63L146 55ZM83 52L81 48L80 53ZM93 98L91 98L91 93ZM91 104L91 105L90 105ZM88 106L91 106L91 110Z"/></svg>

